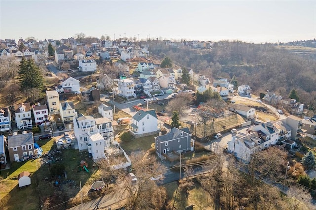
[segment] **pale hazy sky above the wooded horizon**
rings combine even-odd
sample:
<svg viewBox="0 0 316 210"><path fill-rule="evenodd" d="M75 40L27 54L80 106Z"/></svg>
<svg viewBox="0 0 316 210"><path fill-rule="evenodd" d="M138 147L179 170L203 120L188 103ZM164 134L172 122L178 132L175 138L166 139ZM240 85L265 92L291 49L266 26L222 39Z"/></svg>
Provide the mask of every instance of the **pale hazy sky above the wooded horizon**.
<svg viewBox="0 0 316 210"><path fill-rule="evenodd" d="M38 40L76 33L111 39L240 40L316 38L316 1L1 0L0 39Z"/></svg>

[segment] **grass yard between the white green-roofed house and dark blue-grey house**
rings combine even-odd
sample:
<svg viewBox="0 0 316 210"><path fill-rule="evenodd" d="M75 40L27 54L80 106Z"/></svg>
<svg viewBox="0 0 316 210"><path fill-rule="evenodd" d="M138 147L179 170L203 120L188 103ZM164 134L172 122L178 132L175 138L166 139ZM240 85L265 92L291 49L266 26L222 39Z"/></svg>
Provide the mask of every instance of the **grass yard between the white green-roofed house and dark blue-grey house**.
<svg viewBox="0 0 316 210"><path fill-rule="evenodd" d="M155 139L154 137L158 136L159 134L151 135L151 136L145 136L141 138L132 138L128 141L121 141L120 146L126 151L130 152L133 150L148 150L152 147L154 147Z"/></svg>

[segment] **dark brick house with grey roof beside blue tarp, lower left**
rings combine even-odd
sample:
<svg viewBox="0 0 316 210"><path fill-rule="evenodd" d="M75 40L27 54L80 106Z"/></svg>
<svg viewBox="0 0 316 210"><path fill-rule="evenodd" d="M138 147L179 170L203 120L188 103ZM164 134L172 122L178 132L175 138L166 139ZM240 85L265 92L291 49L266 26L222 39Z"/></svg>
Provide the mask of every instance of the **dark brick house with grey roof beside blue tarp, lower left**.
<svg viewBox="0 0 316 210"><path fill-rule="evenodd" d="M23 131L22 134L17 134L14 132L13 136L8 136L8 150L11 161L29 159L29 156L35 154L33 133Z"/></svg>

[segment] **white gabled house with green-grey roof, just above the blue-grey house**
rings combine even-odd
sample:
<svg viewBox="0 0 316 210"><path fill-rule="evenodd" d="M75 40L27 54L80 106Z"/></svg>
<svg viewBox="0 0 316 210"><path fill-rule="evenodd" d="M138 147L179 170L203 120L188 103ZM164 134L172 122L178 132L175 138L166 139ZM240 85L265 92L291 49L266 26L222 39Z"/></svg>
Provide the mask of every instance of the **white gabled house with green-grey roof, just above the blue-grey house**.
<svg viewBox="0 0 316 210"><path fill-rule="evenodd" d="M132 118L130 132L135 137L141 137L156 133L157 115L155 110L139 110Z"/></svg>

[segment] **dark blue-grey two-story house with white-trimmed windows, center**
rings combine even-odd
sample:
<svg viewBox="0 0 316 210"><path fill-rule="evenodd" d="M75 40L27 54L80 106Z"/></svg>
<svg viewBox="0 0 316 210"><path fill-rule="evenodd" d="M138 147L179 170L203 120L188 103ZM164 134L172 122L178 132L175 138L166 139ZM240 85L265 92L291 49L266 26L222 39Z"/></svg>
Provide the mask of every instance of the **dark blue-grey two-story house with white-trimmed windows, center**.
<svg viewBox="0 0 316 210"><path fill-rule="evenodd" d="M172 128L165 135L155 137L156 154L161 160L165 159L168 153L182 153L194 150L194 140L191 139L191 132L188 128Z"/></svg>

